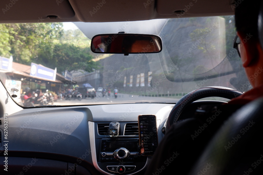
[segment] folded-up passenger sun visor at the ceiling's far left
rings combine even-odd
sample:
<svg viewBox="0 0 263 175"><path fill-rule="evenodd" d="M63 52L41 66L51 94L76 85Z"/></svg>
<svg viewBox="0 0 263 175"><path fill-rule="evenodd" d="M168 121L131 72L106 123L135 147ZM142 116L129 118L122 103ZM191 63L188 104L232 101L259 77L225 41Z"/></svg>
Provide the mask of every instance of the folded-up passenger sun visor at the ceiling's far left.
<svg viewBox="0 0 263 175"><path fill-rule="evenodd" d="M69 19L75 16L68 0L24 1L1 0L0 21L34 20L45 22L45 19Z"/></svg>

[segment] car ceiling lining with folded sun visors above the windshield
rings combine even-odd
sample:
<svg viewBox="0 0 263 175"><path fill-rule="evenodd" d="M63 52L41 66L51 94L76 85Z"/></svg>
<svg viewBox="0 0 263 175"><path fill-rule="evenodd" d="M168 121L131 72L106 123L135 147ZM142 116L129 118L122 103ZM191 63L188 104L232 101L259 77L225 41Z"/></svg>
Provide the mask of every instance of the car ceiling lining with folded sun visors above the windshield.
<svg viewBox="0 0 263 175"><path fill-rule="evenodd" d="M234 0L2 0L0 23L118 22L233 15ZM184 11L182 11L184 10Z"/></svg>

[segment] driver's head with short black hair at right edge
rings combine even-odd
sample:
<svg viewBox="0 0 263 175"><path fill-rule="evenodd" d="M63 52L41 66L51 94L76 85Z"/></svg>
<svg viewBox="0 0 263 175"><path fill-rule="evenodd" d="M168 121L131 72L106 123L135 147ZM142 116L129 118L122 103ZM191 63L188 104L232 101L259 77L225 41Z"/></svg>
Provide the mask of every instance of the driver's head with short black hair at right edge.
<svg viewBox="0 0 263 175"><path fill-rule="evenodd" d="M251 85L258 87L263 84L263 73L254 76L263 67L263 51L258 35L258 15L262 1L240 2L235 9L236 30L241 41L239 52Z"/></svg>

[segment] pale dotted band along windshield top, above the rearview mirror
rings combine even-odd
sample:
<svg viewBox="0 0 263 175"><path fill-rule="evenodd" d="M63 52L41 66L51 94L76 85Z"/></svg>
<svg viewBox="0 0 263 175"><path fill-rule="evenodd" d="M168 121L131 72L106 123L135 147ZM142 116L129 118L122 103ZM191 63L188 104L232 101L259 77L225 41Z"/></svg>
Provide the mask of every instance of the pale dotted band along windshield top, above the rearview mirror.
<svg viewBox="0 0 263 175"><path fill-rule="evenodd" d="M73 22L87 38L99 34L114 34L121 31L132 34L159 35L168 19L152 19L146 21L125 21L107 23Z"/></svg>

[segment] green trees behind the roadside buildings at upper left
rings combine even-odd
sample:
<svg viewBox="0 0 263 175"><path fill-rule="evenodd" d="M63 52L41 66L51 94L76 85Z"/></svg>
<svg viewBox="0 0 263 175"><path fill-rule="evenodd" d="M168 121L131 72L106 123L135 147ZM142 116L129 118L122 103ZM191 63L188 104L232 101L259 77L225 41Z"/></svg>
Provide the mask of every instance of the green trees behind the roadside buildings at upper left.
<svg viewBox="0 0 263 175"><path fill-rule="evenodd" d="M63 30L63 23L0 24L0 56L14 62L42 64L61 73L92 72L98 63L90 54L90 40L80 30Z"/></svg>

